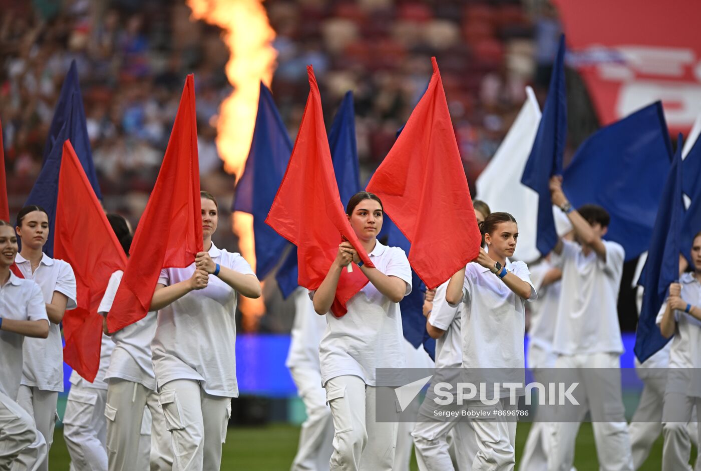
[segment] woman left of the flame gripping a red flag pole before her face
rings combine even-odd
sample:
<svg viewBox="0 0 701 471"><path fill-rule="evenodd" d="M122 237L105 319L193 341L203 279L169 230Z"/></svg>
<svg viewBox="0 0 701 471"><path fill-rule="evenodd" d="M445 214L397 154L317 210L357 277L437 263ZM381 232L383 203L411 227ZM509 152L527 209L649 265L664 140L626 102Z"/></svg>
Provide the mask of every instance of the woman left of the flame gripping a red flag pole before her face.
<svg viewBox="0 0 701 471"><path fill-rule="evenodd" d="M212 243L219 208L201 192L205 251L186 268L161 270L149 311L159 311L151 343L158 401L173 447L173 470L219 469L236 384L236 303L261 286L238 253Z"/></svg>

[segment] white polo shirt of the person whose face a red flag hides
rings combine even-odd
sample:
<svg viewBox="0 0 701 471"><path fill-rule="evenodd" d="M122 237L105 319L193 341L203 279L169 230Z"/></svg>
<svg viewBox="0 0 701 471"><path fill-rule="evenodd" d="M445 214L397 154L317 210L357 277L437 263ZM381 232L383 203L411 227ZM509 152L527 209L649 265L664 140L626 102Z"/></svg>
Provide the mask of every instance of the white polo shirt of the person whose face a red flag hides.
<svg viewBox="0 0 701 471"><path fill-rule="evenodd" d="M106 313L112 309L123 274L124 272L117 270L109 278L107 290L100 307L97 308L98 312ZM151 363L151 341L156 335L157 314L156 311L151 311L140 321L127 325L112 335L114 351L104 379L125 379L156 391L156 374Z"/></svg>

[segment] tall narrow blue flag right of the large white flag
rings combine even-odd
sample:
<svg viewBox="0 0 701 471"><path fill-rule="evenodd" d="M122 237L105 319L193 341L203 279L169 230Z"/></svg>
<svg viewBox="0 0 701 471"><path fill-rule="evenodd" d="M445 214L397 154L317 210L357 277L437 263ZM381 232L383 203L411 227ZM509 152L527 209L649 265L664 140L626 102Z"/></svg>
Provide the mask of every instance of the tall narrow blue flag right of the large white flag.
<svg viewBox="0 0 701 471"><path fill-rule="evenodd" d="M562 175L562 153L567 134L567 97L565 93L565 36L560 37L557 56L552 64L550 87L540 118L536 140L533 141L521 183L538 193L538 230L536 248L547 255L557 244L557 231L552 216L550 177Z"/></svg>

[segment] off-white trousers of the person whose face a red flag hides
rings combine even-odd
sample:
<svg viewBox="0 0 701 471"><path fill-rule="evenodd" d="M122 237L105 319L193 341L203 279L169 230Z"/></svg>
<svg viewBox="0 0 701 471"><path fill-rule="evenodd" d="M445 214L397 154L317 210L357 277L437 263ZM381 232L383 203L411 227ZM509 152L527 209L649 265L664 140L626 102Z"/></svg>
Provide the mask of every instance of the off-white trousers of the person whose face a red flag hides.
<svg viewBox="0 0 701 471"><path fill-rule="evenodd" d="M144 410L150 410L150 416ZM170 470L172 446L155 391L132 381L109 379L104 416L110 471ZM150 424L146 430L144 422Z"/></svg>

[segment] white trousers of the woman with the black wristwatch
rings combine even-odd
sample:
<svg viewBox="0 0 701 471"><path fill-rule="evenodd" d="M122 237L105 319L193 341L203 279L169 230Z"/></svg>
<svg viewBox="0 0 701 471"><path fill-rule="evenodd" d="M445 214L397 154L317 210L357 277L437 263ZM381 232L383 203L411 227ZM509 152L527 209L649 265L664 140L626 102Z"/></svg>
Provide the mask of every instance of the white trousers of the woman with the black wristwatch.
<svg viewBox="0 0 701 471"><path fill-rule="evenodd" d="M498 405L487 409L512 408L509 400L502 399ZM424 400L426 405L426 400ZM433 408L432 408L433 407ZM466 401L463 406L472 411L482 409L479 401ZM515 465L516 422L502 419L453 419L435 421L435 406L421 407L419 421L411 435L416 447L419 469L428 471L479 470L510 471ZM433 419L433 421L432 421ZM455 442L455 465L449 453L447 440L452 430Z"/></svg>

